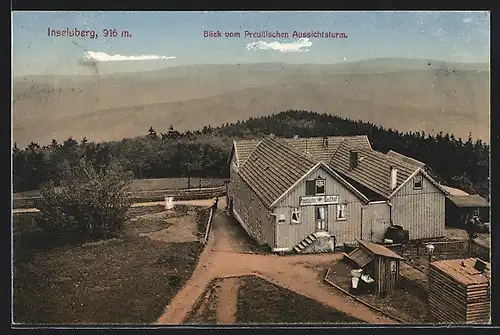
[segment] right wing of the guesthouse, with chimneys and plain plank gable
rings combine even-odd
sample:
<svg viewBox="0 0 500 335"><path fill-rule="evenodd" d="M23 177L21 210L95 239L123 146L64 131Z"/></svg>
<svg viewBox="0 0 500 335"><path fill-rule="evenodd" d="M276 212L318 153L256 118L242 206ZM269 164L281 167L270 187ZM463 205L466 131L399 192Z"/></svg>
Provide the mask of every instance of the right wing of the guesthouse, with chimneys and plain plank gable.
<svg viewBox="0 0 500 335"><path fill-rule="evenodd" d="M370 199L361 239L382 241L389 225L410 240L445 236L446 193L422 166L342 143L329 166Z"/></svg>

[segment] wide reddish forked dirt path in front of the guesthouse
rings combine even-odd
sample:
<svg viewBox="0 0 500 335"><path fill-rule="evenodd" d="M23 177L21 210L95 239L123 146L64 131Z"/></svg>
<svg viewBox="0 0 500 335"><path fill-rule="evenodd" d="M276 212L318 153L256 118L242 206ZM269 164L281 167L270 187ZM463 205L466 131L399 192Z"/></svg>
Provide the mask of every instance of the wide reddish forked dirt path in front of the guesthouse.
<svg viewBox="0 0 500 335"><path fill-rule="evenodd" d="M217 212L212 225L207 247L192 277L166 307L157 324L181 324L213 279L246 275L259 276L368 323L395 323L324 284L324 274L318 268L338 260L341 254L289 257L248 254L244 253L245 243L235 233L235 223L227 214ZM226 282L223 294L230 296L234 290L237 291L234 282ZM230 301L226 300L226 304ZM233 312L229 308L218 313L221 318L218 322L225 323Z"/></svg>

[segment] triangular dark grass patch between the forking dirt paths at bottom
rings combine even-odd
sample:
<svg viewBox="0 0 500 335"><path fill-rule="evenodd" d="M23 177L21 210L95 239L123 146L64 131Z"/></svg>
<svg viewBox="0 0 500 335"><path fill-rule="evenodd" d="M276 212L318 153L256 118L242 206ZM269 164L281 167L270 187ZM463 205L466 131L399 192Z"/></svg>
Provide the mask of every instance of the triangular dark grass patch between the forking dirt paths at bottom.
<svg viewBox="0 0 500 335"><path fill-rule="evenodd" d="M226 281L232 281L232 285L236 286L233 292L236 301L226 299L228 294L222 290ZM235 310L230 311L231 305L234 305ZM234 320L225 316L228 311L232 312ZM255 276L213 281L186 323L227 323L224 321L234 321L236 324L361 323L342 312Z"/></svg>

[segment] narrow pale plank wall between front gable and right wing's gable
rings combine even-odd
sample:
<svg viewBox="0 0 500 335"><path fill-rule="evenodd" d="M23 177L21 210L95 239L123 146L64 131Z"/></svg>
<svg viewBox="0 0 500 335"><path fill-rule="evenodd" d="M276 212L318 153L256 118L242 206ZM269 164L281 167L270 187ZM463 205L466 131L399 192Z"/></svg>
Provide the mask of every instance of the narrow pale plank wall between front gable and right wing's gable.
<svg viewBox="0 0 500 335"><path fill-rule="evenodd" d="M385 232L391 225L391 211L384 203L370 203L363 208L363 228L361 239L370 242L382 242Z"/></svg>

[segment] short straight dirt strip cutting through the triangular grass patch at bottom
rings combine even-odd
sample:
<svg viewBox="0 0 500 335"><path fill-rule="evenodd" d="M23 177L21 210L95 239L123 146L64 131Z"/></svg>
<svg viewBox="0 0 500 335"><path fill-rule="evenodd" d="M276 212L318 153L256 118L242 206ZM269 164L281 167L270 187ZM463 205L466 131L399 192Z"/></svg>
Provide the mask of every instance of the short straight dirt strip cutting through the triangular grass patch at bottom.
<svg viewBox="0 0 500 335"><path fill-rule="evenodd" d="M216 288L216 317L218 324L230 325L235 323L239 286L238 278L225 278Z"/></svg>

